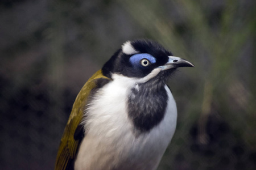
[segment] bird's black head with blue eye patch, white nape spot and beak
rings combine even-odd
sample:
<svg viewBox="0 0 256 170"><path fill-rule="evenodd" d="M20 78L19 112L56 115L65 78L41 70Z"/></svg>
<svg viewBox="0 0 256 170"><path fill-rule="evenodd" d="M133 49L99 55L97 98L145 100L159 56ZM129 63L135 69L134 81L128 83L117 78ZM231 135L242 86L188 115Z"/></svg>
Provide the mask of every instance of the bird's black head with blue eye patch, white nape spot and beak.
<svg viewBox="0 0 256 170"><path fill-rule="evenodd" d="M109 78L123 75L137 78L139 83L148 80L166 80L177 67L194 67L185 59L174 57L158 42L151 40L127 41L102 67Z"/></svg>

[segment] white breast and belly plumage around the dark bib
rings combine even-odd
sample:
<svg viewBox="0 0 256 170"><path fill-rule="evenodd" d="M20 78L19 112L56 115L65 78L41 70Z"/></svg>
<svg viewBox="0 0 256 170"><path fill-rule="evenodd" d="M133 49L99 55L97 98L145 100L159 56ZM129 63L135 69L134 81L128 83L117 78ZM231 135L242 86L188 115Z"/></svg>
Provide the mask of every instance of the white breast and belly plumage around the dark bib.
<svg viewBox="0 0 256 170"><path fill-rule="evenodd" d="M75 170L156 169L176 128L177 109L171 91L163 121L149 133L135 136L127 116L127 93L132 78L117 78L101 88L88 107L86 135Z"/></svg>

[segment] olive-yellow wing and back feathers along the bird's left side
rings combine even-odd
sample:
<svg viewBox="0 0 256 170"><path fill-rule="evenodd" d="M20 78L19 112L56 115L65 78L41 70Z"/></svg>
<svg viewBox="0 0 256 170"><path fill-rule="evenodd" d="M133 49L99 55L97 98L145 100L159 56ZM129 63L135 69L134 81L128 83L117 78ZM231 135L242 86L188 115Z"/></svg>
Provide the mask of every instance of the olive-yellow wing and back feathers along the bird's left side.
<svg viewBox="0 0 256 170"><path fill-rule="evenodd" d="M90 95L90 91L97 86L97 80L103 79L109 80L101 73L101 70L97 71L82 87L81 91L76 97L75 103L71 114L68 119L68 123L65 126L63 136L61 138L59 151L57 152L55 170L68 170L73 169L73 162L75 160L77 149L81 138L74 139L76 129L80 125L82 116L85 110L85 106ZM101 81L102 82L102 81ZM80 132L78 132L80 133ZM76 135L75 135L76 136Z"/></svg>

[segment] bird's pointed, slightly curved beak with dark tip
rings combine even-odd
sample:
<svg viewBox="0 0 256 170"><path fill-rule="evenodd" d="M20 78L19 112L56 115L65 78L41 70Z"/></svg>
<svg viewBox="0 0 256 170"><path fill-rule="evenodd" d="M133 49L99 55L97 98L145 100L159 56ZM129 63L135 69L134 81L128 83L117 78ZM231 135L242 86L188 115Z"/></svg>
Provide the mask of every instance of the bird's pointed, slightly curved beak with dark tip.
<svg viewBox="0 0 256 170"><path fill-rule="evenodd" d="M180 57L174 57L174 56L168 56L168 62L163 65L159 66L160 69L168 70L168 69L175 69L177 67L195 67L191 62L188 62L185 59L182 59Z"/></svg>

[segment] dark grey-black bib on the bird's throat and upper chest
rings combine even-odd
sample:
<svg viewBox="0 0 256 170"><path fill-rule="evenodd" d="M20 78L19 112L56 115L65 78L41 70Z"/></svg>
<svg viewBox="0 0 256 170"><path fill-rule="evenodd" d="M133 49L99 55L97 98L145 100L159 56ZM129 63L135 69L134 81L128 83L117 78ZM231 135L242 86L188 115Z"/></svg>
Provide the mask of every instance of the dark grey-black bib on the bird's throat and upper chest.
<svg viewBox="0 0 256 170"><path fill-rule="evenodd" d="M163 120L167 101L164 84L144 83L133 88L128 98L128 112L135 129L144 133L158 125Z"/></svg>

